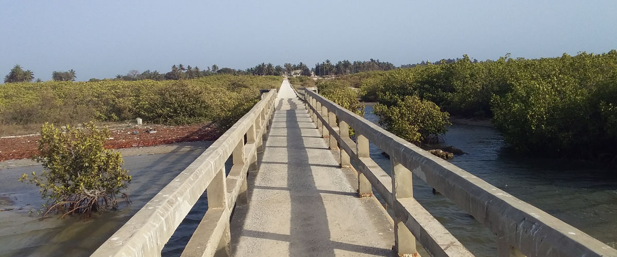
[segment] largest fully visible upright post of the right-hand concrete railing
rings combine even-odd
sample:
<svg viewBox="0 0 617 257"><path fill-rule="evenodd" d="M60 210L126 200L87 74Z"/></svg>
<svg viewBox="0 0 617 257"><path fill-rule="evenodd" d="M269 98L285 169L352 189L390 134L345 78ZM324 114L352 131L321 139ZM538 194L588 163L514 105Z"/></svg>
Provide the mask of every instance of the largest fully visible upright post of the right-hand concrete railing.
<svg viewBox="0 0 617 257"><path fill-rule="evenodd" d="M394 160L392 156L390 162L392 167L392 198L413 197L412 172ZM396 210L394 213L396 213ZM399 256L417 256L418 253L416 251L416 238L398 216L394 217L394 250Z"/></svg>

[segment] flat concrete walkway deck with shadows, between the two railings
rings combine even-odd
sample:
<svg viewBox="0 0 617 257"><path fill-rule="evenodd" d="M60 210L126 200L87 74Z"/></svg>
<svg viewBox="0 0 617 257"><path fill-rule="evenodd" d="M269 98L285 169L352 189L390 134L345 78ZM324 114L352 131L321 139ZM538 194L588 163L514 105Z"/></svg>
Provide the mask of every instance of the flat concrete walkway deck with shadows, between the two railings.
<svg viewBox="0 0 617 257"><path fill-rule="evenodd" d="M231 221L234 256L392 256L391 222L357 197L352 171L339 168L288 81L264 144L249 205Z"/></svg>

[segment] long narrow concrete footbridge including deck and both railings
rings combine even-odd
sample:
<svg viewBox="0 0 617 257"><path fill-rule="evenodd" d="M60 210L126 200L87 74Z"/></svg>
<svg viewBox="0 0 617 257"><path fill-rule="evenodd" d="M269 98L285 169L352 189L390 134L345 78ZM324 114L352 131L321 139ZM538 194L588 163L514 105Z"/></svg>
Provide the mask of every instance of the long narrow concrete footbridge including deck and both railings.
<svg viewBox="0 0 617 257"><path fill-rule="evenodd" d="M617 256L316 91L294 91L286 80L280 92L264 91L93 256L160 256L204 192L209 209L182 256L473 256L414 200L412 179L427 182L491 230L500 257ZM371 160L369 142L391 157L389 173Z"/></svg>

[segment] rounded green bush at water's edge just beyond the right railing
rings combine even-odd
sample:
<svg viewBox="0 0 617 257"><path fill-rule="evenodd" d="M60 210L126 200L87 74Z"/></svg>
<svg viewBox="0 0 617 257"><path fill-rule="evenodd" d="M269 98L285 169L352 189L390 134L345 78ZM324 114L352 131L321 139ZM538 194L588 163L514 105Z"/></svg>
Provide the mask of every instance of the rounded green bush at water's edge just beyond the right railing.
<svg viewBox="0 0 617 257"><path fill-rule="evenodd" d="M436 104L417 96L405 96L390 107L376 104L373 108L379 116L379 124L413 144L439 142L439 136L445 134L446 126L450 125L447 112L441 112Z"/></svg>

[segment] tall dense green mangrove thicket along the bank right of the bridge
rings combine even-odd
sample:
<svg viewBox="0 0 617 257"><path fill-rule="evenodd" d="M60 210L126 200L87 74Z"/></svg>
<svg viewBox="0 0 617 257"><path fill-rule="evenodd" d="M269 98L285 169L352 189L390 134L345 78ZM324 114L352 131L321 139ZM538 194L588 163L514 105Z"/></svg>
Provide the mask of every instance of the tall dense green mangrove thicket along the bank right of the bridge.
<svg viewBox="0 0 617 257"><path fill-rule="evenodd" d="M362 98L391 108L415 96L452 115L492 118L505 141L521 152L615 166L617 51L486 62L465 55L441 64L364 78Z"/></svg>

